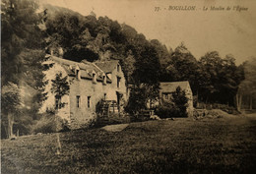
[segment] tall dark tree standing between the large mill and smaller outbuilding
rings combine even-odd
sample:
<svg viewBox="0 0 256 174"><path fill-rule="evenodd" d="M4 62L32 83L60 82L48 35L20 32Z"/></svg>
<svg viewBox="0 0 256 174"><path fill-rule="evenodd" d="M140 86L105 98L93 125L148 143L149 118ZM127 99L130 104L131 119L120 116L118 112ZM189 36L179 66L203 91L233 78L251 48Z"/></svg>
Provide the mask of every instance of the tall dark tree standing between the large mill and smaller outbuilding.
<svg viewBox="0 0 256 174"><path fill-rule="evenodd" d="M150 44L141 43L133 50L133 84L126 110L132 114L147 108L147 103L159 97L160 60L156 49Z"/></svg>

